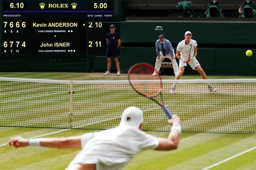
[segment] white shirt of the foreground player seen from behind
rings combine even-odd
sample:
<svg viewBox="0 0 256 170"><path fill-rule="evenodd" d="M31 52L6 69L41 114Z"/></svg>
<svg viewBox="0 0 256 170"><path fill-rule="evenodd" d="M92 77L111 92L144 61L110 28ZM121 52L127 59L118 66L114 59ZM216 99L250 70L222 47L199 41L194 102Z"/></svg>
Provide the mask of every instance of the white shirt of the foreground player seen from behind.
<svg viewBox="0 0 256 170"><path fill-rule="evenodd" d="M96 169L123 169L124 166L144 149L155 149L159 145L157 137L140 129L118 126L106 131L82 135L82 151L69 164L96 163Z"/></svg>

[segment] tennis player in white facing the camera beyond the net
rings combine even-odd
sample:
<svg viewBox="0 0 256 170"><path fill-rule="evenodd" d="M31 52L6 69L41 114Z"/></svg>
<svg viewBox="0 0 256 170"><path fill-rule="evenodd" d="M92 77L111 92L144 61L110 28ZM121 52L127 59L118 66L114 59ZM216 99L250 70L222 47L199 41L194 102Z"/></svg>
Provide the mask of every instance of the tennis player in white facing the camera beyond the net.
<svg viewBox="0 0 256 170"><path fill-rule="evenodd" d="M192 33L190 31L185 32L184 37L185 39L179 42L176 50L176 57L180 60L179 62L180 70L177 76L175 77L175 80L179 80L182 77L187 64L190 65L190 67L193 70L197 70L197 72L200 73L202 79L207 79L207 75L205 74L204 70L200 66L200 63L196 60L197 42L194 39L192 39ZM194 49L193 56L190 56L191 47L193 47ZM216 92L217 90L210 83L208 83L208 88L210 92ZM176 89L176 83L172 85L170 93L172 94L175 93L175 89Z"/></svg>

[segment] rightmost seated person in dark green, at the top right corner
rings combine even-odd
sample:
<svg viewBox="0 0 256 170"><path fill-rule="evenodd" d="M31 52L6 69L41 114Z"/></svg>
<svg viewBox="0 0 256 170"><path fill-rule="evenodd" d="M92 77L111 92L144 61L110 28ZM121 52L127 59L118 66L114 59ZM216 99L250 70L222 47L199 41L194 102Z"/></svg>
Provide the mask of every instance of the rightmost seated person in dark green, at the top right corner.
<svg viewBox="0 0 256 170"><path fill-rule="evenodd" d="M256 16L256 3L251 0L244 0L238 9L240 13L239 18L254 17Z"/></svg>

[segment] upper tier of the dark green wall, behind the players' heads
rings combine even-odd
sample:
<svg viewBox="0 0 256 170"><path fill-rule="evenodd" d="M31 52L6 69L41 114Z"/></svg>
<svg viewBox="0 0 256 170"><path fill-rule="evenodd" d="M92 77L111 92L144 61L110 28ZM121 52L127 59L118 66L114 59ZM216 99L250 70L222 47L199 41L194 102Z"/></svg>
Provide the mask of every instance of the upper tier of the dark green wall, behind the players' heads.
<svg viewBox="0 0 256 170"><path fill-rule="evenodd" d="M163 30L155 30L157 26ZM120 27L125 43L155 42L159 34L178 43L190 30L199 44L256 44L255 21L129 21Z"/></svg>

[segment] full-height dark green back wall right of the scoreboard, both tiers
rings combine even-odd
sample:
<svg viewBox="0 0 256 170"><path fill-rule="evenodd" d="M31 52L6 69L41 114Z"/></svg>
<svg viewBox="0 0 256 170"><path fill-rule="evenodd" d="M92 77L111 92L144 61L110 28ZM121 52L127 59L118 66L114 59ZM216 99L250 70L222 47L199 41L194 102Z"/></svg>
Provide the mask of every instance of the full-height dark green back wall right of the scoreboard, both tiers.
<svg viewBox="0 0 256 170"><path fill-rule="evenodd" d="M155 30L161 26L163 30ZM197 60L208 75L256 75L256 22L170 21L121 22L121 68L127 72L132 64L146 62L154 65L154 43L164 34L174 48L185 31L193 33L199 47ZM251 49L254 55L245 55ZM186 69L187 73L195 73Z"/></svg>

